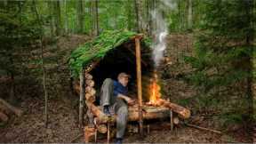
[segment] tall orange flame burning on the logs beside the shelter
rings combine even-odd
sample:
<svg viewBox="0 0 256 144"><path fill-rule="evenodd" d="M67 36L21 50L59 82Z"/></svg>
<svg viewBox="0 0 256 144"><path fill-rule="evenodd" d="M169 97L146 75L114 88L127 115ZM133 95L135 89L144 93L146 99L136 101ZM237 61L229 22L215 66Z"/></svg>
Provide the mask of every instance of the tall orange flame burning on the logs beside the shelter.
<svg viewBox="0 0 256 144"><path fill-rule="evenodd" d="M151 84L149 85L150 97L148 104L155 105L157 100L159 100L161 97L161 87L157 84L157 82L157 75L154 74L154 78L152 78Z"/></svg>

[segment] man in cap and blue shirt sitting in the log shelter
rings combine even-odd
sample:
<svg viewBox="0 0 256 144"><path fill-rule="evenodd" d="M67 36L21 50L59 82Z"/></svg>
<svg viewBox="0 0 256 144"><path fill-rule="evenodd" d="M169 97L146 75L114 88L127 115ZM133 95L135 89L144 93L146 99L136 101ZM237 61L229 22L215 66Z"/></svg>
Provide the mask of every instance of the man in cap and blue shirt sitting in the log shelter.
<svg viewBox="0 0 256 144"><path fill-rule="evenodd" d="M114 108L116 117L116 143L122 143L128 118L128 104L132 105L134 100L127 96L127 84L129 75L120 73L118 81L106 78L100 89L100 106L107 116L111 116L109 108Z"/></svg>

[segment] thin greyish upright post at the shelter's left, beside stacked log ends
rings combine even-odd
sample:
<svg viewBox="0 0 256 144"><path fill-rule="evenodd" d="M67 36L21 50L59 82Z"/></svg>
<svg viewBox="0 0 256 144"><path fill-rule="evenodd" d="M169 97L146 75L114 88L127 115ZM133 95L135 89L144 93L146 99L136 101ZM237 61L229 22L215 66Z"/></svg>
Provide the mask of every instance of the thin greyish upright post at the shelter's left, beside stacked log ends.
<svg viewBox="0 0 256 144"><path fill-rule="evenodd" d="M84 119L84 92L85 92L85 86L84 86L84 68L80 73L80 99L79 99L79 126L83 126L83 119Z"/></svg>

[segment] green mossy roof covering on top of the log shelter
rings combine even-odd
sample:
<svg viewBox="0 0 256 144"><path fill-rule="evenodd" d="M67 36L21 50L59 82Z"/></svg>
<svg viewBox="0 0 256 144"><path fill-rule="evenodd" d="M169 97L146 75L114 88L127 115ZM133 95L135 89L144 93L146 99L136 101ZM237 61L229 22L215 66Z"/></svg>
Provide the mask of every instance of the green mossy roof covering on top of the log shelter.
<svg viewBox="0 0 256 144"><path fill-rule="evenodd" d="M104 31L90 42L80 45L70 55L68 64L72 76L79 76L79 72L93 60L99 60L112 49L129 41L139 34L127 30ZM150 39L143 37L142 42L149 47Z"/></svg>

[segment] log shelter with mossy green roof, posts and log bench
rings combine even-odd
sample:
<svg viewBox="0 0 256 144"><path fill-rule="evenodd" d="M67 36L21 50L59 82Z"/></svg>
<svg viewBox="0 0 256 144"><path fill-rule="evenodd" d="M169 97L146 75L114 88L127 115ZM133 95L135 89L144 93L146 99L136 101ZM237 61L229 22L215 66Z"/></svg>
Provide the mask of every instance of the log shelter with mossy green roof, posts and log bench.
<svg viewBox="0 0 256 144"><path fill-rule="evenodd" d="M120 72L132 76L128 85L129 95L135 96L138 102L129 107L128 121L139 122L140 133L143 131L143 120L170 116L170 108L143 106L143 100L146 100L148 94L148 80L143 83L144 77L150 77L154 69L150 45L151 42L147 36L135 32L105 31L71 53L69 68L75 79L73 87L80 95L79 124L83 125L84 109L89 119L84 127L85 142L88 142L93 134L97 135L95 134L97 132L107 132L109 142L109 123L115 122L116 117L109 119L102 112L96 95L99 95L100 86L106 78L116 80Z"/></svg>

